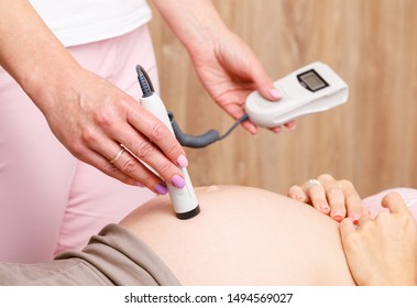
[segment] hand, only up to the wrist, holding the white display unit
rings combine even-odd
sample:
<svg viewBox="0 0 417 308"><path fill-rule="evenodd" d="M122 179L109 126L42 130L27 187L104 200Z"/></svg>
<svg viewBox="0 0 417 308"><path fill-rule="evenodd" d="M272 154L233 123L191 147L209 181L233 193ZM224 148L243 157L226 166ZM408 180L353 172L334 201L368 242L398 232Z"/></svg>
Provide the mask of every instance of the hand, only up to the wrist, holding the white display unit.
<svg viewBox="0 0 417 308"><path fill-rule="evenodd" d="M195 47L190 57L206 90L235 120L245 113L245 99L253 90L271 101L281 99L281 92L274 88L273 80L251 48L228 29ZM256 134L257 127L250 120L242 125L251 134ZM294 121L284 125L295 129ZM271 130L278 133L282 127Z"/></svg>

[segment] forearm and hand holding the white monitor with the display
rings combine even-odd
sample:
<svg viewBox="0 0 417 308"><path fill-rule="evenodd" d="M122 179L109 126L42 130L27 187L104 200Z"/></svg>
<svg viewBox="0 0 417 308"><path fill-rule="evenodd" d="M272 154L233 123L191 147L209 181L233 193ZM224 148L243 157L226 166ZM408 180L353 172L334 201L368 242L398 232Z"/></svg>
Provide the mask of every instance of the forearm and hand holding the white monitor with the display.
<svg viewBox="0 0 417 308"><path fill-rule="evenodd" d="M251 48L232 33L210 0L153 0L171 30L187 48L196 73L211 98L233 119L245 114L248 95L257 90L276 101L281 94ZM257 127L242 123L250 133ZM285 127L295 128L294 122ZM282 127L271 129L279 132Z"/></svg>

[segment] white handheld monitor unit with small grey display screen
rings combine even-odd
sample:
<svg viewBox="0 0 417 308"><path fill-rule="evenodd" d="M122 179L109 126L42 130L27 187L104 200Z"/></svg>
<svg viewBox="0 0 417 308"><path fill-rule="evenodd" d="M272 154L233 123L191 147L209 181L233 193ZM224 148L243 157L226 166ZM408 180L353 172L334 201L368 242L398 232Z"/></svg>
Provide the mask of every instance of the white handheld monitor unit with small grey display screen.
<svg viewBox="0 0 417 308"><path fill-rule="evenodd" d="M268 101L257 91L246 98L249 119L263 128L275 128L298 117L320 112L348 100L348 85L328 65L320 62L304 66L274 81L282 94Z"/></svg>

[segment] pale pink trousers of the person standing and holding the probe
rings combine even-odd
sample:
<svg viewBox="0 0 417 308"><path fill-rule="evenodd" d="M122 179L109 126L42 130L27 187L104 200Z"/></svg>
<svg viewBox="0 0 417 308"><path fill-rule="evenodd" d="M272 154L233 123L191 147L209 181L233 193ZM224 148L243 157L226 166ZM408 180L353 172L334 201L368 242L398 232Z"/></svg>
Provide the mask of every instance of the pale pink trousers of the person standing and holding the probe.
<svg viewBox="0 0 417 308"><path fill-rule="evenodd" d="M157 89L147 26L68 50L81 66L138 100L136 64ZM122 184L72 156L0 67L0 262L41 262L79 250L91 234L152 197L150 190Z"/></svg>

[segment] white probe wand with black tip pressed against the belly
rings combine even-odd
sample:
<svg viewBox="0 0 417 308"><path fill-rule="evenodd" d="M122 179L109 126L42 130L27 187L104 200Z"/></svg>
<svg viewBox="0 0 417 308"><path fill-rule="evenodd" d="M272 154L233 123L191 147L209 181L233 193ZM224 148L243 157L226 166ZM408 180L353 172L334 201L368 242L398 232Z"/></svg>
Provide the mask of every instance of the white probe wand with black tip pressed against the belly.
<svg viewBox="0 0 417 308"><path fill-rule="evenodd" d="M141 66L136 67L138 79L142 88L143 96L141 98L141 105L149 110L152 114L157 117L173 133L174 130L169 121L168 113L162 99L153 91L153 87L150 87L151 80ZM144 74L143 74L144 73ZM184 188L176 188L171 184L167 184L168 194L174 206L175 213L179 219L189 219L197 216L200 212L200 207L188 170L182 167L185 186Z"/></svg>

